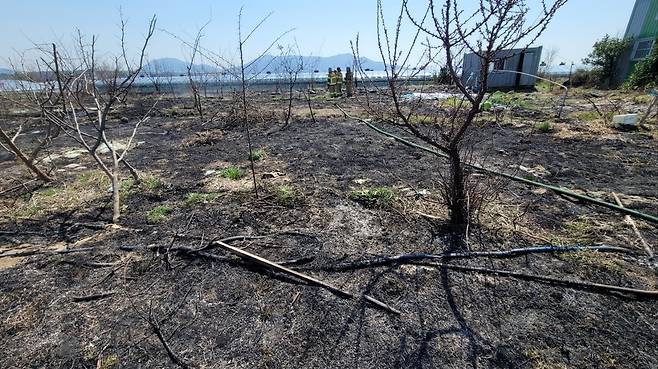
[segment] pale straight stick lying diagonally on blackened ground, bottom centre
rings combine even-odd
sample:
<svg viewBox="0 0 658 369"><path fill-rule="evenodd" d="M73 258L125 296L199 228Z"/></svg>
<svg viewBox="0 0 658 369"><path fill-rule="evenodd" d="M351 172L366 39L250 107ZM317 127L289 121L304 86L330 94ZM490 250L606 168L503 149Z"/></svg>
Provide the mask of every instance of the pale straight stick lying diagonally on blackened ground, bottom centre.
<svg viewBox="0 0 658 369"><path fill-rule="evenodd" d="M267 260L267 259L265 259L265 258L262 258L262 257L260 257L260 256L258 256L258 255L254 255L254 254L249 253L249 252L247 252L247 251L240 250L240 249L235 248L235 247L233 247L233 246L230 246L230 245L228 245L228 244L226 244L226 243L224 243L224 242L221 242L221 241L215 241L215 242L213 242L213 243L214 243L216 246L219 246L220 248L222 248L222 249L224 249L224 250L226 250L226 251L228 251L228 252L230 252L230 253L232 253L232 254L238 255L239 257L241 257L241 258L243 258L243 259L247 259L247 260L249 260L249 261L253 261L253 262L255 262L255 263L257 263L257 264L260 264L260 265L262 265L262 266L264 266L264 267L266 267L266 268L274 269L274 270L276 270L276 271L278 271L278 272L282 272L282 273L285 273L285 274L288 274L288 275L292 275L292 276L294 276L294 277L296 277L296 278L298 278L298 279L301 279L301 280L303 280L304 282L307 282L307 283L309 283L309 284L311 284L311 285L315 285L315 286L318 286L318 287L322 287L322 288L324 288L324 289L326 289L326 290L332 292L333 294L335 294L335 295L337 295L337 296L344 297L344 298L351 298L351 299L354 299L354 298L357 297L356 295L354 295L354 294L352 294L352 293L350 293L350 292L347 292L347 291L341 290L341 289L339 289L339 288L337 288L337 287L334 287L334 286L332 286L332 285L330 285L330 284L328 284L328 283L326 283L326 282L320 281L320 280L318 280L318 279L316 279L316 278L310 277L310 276L308 276L308 275L306 275L306 274L302 274L302 273L297 272L297 271L294 271L294 270L292 270L292 269L288 269L288 268L286 268L286 267L284 267L284 266L282 266L282 265L280 265L280 264L277 264L277 263L275 263L275 262L269 261L269 260ZM386 311L388 311L388 312L390 312L390 313L397 314L397 315L401 314L399 310L396 310L396 309L392 308L391 306L389 306L389 305L387 305L387 304L385 304L385 303L383 303L383 302L381 302L381 301L379 301L379 300L377 300L377 299L375 299L375 298L373 298L373 297L371 297L371 296L363 295L362 297L363 297L366 301L370 302L371 304L373 304L373 305L375 305L375 306L377 306L377 307L379 307L379 308L382 308L382 309L384 309L384 310L386 310Z"/></svg>

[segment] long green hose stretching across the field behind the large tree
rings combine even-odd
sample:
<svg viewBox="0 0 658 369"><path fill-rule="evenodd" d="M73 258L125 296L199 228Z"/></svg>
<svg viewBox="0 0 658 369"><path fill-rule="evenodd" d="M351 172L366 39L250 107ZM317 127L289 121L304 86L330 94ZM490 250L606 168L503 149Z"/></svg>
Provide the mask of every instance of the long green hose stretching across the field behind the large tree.
<svg viewBox="0 0 658 369"><path fill-rule="evenodd" d="M394 135L393 133L385 131L385 130L375 126L374 124L370 123L369 121L367 121L365 119L352 116L352 115L348 114L345 110L343 110L338 104L336 104L336 107L338 107L338 109L340 109L343 112L343 114L345 114L346 117L358 120L360 122L363 122L368 127L375 130L376 132L378 132L378 133L380 133L384 136L391 137L394 140L400 142L401 144L404 144L406 146L413 147L413 148L428 152L430 154L434 154L436 156L440 156L442 158L448 158L448 155L445 154L445 153L442 153L440 151L436 151L436 150L430 149L428 147L419 145L417 143L411 142L411 141L406 140L406 139L404 139L400 136ZM489 175L494 175L494 176L499 176L499 177L511 179L513 181L525 183L525 184L528 184L530 186L546 188L548 190L551 190L551 191L553 191L555 193L558 193L558 194L561 194L561 195L566 195L566 196L569 196L571 198L575 198L575 199L578 199L578 200L581 200L581 201L589 202L589 203L592 203L594 205L598 205L598 206L601 206L601 207L604 207L604 208L608 208L610 210L614 210L614 211L622 213L622 214L627 214L627 215L630 215L630 216L633 216L633 217L636 217L636 218L639 218L639 219L642 219L642 220L646 220L647 222L651 222L654 225L658 225L658 216L655 216L655 215L645 214L645 213L642 213L642 212L639 212L639 211L636 211L636 210L633 210L633 209L628 209L628 208L625 208L623 206L619 206L617 204L612 204L612 203L609 203L609 202L606 202L606 201L603 201L603 200L595 199L593 197L581 195L581 194L575 193L573 191L566 190L566 189L563 189L563 188L560 188L560 187L557 187L557 186L553 186L553 185L550 185L550 184L547 184L547 183L537 182L537 181L533 181L531 179L526 179L526 178L523 178L523 177L517 177L515 175L505 173L505 172L498 172L498 171L495 171L495 170L492 170L492 169L487 169L487 168L481 167L479 165L466 164L466 166L468 168L475 169L476 171L481 172L481 173L486 173L486 174L489 174Z"/></svg>

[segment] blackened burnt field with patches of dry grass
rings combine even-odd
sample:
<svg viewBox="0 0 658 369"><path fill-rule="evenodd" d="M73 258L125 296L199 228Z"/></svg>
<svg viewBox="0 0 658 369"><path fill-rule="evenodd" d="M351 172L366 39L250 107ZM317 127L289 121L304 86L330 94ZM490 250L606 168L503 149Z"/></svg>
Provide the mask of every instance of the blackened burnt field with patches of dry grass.
<svg viewBox="0 0 658 369"><path fill-rule="evenodd" d="M628 208L657 213L655 118L624 131L578 93L559 120L557 93L501 98L510 96L513 109L483 114L473 128L478 164L606 202L614 193ZM119 142L131 136L126 121L148 109L142 99L113 112ZM469 231L468 251L454 255L437 185L443 159L334 105L363 116L354 100L314 98L316 122L297 101L281 128L281 102L254 99L258 197L244 126L222 99L212 99L217 119L209 123L190 99L158 104L129 152L141 180L122 178L118 224L110 223L109 180L72 140L46 149L42 165L56 168L48 185L28 182L19 163L2 157L0 366L658 366L655 297L565 282L658 289L655 261L624 214L476 174L495 196ZM618 96L626 110L642 111L637 99ZM44 127L29 111L3 112L3 128L20 123L17 142L29 147ZM655 225L635 222L648 245L658 244ZM234 236L244 237L227 239ZM400 314L240 258L219 240ZM602 245L610 249L569 249ZM476 254L535 246L558 250ZM444 258L363 263L410 253Z"/></svg>

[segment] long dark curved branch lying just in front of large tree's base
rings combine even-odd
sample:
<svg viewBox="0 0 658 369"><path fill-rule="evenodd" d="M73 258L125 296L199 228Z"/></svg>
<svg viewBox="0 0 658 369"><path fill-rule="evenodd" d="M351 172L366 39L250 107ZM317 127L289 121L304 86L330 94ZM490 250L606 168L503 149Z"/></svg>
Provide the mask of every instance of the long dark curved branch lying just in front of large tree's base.
<svg viewBox="0 0 658 369"><path fill-rule="evenodd" d="M382 256L371 260L357 261L354 263L341 264L323 268L329 271L353 270L378 267L390 264L404 264L422 260L447 260L447 259L471 259L471 258L513 258L518 256L530 254L546 254L546 253L567 253L577 251L598 251L598 252L621 252L633 253L633 250L616 247L616 246L537 246L528 248L518 248L507 251L472 251L472 252L456 252L447 254L401 254L396 256Z"/></svg>

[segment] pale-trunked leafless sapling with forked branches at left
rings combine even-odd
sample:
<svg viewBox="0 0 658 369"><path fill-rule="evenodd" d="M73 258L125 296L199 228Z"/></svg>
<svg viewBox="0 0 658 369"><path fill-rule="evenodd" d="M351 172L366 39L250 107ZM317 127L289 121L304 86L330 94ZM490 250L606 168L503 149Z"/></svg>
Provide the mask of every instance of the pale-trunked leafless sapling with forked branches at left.
<svg viewBox="0 0 658 369"><path fill-rule="evenodd" d="M118 103L125 101L135 79L139 75L145 60L146 48L155 32L156 18L151 18L148 31L137 57L137 62L131 63L125 44L126 23L121 19L121 55L114 58L112 64L102 67L97 60L96 37L86 43L78 32L78 55L62 58L59 53L52 54L52 61L47 65L59 65L60 71L52 71L60 80L63 71L72 74L70 83L62 84L59 99L62 100L65 114L52 114L44 109L46 118L57 125L68 137L81 145L91 156L112 183L112 221L119 221L120 206L120 166L123 165L131 175L138 180L137 171L128 163L127 153L132 148L133 140L139 126L150 115L151 109L138 119L131 135L123 147L110 137L110 113ZM51 67L52 68L52 67ZM73 71L73 72L71 72ZM91 106L89 106L91 104ZM84 121L83 121L84 120ZM102 153L105 149L109 158Z"/></svg>

